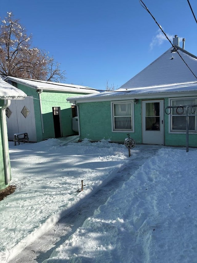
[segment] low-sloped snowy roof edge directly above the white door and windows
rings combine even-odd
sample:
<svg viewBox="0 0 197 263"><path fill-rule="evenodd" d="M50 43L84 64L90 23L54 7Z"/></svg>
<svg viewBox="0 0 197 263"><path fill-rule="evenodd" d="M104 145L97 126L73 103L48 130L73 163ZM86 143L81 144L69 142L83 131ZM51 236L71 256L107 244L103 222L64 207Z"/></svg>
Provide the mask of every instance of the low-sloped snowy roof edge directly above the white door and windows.
<svg viewBox="0 0 197 263"><path fill-rule="evenodd" d="M119 89L114 92L101 92L100 94L90 94L84 95L81 97L70 97L67 98L67 101L70 103L76 102L85 102L85 101L109 101L109 100L125 100L130 98L145 98L147 96L163 96L171 97L175 96L175 92L182 93L182 96L186 92L197 92L197 81L196 82L186 82L186 83L175 83L168 85L157 85L149 87L139 87L139 88L130 88L130 89ZM127 97L125 97L127 96ZM149 96L149 97L150 97Z"/></svg>

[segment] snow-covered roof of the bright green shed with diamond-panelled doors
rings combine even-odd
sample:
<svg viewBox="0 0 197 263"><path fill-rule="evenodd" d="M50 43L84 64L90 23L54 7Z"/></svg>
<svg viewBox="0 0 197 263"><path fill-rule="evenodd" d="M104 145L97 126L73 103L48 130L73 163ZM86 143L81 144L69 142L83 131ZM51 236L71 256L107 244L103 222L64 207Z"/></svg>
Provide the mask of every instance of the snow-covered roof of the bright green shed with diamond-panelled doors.
<svg viewBox="0 0 197 263"><path fill-rule="evenodd" d="M62 91L62 92L74 92L74 93L99 93L99 91L86 86L65 84L58 82L50 82L43 80L31 80L7 76L5 80L11 80L19 84L26 85L35 89L50 90L50 91Z"/></svg>

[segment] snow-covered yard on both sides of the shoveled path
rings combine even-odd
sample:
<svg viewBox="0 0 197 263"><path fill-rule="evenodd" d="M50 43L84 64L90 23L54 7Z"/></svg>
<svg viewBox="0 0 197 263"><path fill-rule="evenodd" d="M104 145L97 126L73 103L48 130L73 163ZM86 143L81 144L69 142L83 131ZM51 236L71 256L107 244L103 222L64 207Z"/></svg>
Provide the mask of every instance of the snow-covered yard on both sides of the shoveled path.
<svg viewBox="0 0 197 263"><path fill-rule="evenodd" d="M0 202L2 262L123 173L130 179L44 263L196 262L197 150L146 147L152 157L131 173L142 145L129 158L125 146L107 141L10 142L17 189ZM84 191L77 192L81 180Z"/></svg>

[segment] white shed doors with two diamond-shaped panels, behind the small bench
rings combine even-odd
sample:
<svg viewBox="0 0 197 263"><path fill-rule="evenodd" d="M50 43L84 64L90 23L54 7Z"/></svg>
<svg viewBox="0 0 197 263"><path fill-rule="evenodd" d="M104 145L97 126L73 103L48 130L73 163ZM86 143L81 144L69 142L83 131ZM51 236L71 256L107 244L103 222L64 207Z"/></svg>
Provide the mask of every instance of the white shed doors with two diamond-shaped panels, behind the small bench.
<svg viewBox="0 0 197 263"><path fill-rule="evenodd" d="M30 142L36 142L36 125L34 115L34 101L26 97L24 100L13 100L6 110L8 139L12 141L14 134L27 132Z"/></svg>

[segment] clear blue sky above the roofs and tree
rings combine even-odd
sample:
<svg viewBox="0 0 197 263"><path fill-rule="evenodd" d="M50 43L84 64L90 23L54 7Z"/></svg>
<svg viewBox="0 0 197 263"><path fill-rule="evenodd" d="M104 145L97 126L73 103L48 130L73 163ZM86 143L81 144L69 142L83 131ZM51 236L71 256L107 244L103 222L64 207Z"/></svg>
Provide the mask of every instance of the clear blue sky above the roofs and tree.
<svg viewBox="0 0 197 263"><path fill-rule="evenodd" d="M197 55L197 23L187 0L143 0L163 30L186 38ZM189 1L197 18L197 1ZM66 71L65 83L119 88L171 44L139 0L3 1L1 20L12 12L34 47L49 51Z"/></svg>

